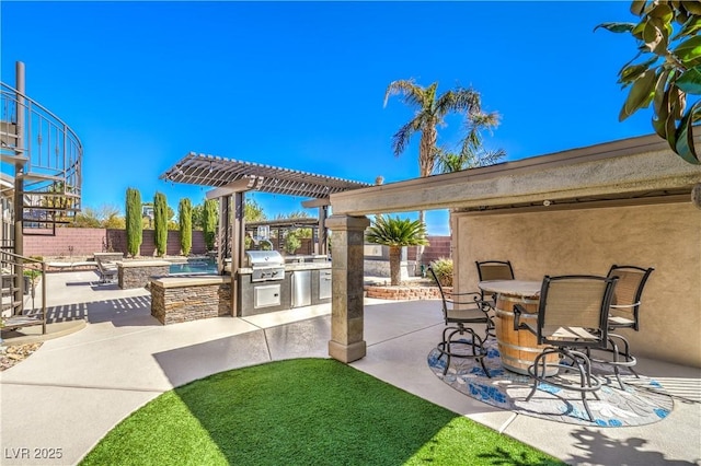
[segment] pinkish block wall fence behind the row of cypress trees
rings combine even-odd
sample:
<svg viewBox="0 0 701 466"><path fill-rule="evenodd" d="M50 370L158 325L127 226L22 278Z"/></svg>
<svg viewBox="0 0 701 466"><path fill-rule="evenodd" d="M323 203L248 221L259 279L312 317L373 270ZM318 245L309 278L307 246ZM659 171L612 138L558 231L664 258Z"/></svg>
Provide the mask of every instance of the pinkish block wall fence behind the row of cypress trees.
<svg viewBox="0 0 701 466"><path fill-rule="evenodd" d="M424 248L423 263L428 264L444 257L450 257L450 236L428 236L429 246ZM302 244L297 254L312 254L312 244L308 238L302 238ZM115 252L126 256L127 240L124 230L112 229L56 229L56 235L24 235L24 255L41 257L92 257L94 253ZM205 235L199 230L193 231L193 246L191 254L202 255L207 253ZM180 232L169 230L168 256L180 255ZM416 259L416 247L409 247L407 259ZM153 230L143 230L140 256L156 256L153 244Z"/></svg>

